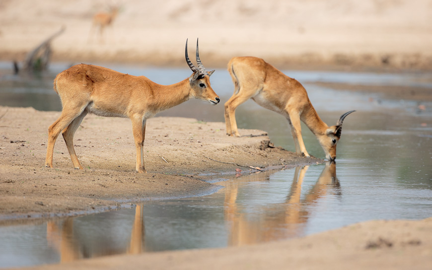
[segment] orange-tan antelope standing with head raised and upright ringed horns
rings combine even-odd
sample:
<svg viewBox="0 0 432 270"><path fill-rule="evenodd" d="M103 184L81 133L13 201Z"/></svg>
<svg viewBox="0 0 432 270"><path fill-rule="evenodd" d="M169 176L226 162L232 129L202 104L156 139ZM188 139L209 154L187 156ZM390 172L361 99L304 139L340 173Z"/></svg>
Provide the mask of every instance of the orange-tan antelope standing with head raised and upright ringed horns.
<svg viewBox="0 0 432 270"><path fill-rule="evenodd" d="M93 113L106 117L128 117L137 147L137 172L144 168L143 144L145 123L150 117L189 99L197 98L219 103L219 97L210 85L210 75L201 63L198 53L196 68L188 57L188 41L185 48L186 62L193 73L189 78L172 85L160 85L144 76L123 74L108 68L92 65L76 65L59 73L54 79L54 90L62 101L62 114L48 129L46 167L53 167L53 151L57 136L63 138L75 169L82 169L73 149L73 134L82 119Z"/></svg>

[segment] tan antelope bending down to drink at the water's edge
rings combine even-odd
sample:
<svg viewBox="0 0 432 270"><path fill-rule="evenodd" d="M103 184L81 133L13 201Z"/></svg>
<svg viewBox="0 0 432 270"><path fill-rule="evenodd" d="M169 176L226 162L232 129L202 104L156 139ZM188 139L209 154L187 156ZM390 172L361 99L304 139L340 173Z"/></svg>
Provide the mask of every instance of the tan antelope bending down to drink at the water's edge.
<svg viewBox="0 0 432 270"><path fill-rule="evenodd" d="M326 158L330 161L336 159L336 144L341 138L342 123L347 115L355 111L343 114L335 126L329 127L316 113L304 87L264 60L234 57L228 63L228 71L234 82L234 94L225 103L228 135L240 136L235 122L235 109L252 98L262 107L288 119L297 154L310 157L301 137L301 120L317 137Z"/></svg>

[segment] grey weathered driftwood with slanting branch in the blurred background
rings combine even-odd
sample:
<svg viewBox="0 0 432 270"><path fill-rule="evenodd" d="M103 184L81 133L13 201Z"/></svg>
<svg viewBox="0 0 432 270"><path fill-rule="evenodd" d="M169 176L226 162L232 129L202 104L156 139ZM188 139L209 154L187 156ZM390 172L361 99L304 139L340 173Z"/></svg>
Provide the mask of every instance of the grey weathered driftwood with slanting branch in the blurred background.
<svg viewBox="0 0 432 270"><path fill-rule="evenodd" d="M44 40L39 46L27 54L23 63L23 69L27 71L45 70L51 57L51 41L65 31L63 26L59 31ZM19 68L14 62L14 71L18 73Z"/></svg>

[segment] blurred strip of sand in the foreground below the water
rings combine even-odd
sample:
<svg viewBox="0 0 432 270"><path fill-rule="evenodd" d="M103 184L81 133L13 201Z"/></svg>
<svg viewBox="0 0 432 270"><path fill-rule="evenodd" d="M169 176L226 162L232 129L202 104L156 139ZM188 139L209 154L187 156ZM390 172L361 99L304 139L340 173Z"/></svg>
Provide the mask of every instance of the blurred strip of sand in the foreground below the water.
<svg viewBox="0 0 432 270"><path fill-rule="evenodd" d="M288 241L110 256L29 269L415 269L432 263L432 218L375 220Z"/></svg>

